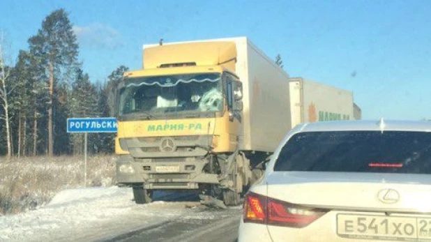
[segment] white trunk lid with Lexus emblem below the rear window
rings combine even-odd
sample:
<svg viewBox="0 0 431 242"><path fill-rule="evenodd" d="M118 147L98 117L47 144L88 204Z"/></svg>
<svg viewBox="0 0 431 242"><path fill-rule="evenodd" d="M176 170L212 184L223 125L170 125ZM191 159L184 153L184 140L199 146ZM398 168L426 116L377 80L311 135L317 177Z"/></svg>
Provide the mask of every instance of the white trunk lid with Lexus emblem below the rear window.
<svg viewBox="0 0 431 242"><path fill-rule="evenodd" d="M313 208L431 211L431 177L424 174L272 172L268 197Z"/></svg>

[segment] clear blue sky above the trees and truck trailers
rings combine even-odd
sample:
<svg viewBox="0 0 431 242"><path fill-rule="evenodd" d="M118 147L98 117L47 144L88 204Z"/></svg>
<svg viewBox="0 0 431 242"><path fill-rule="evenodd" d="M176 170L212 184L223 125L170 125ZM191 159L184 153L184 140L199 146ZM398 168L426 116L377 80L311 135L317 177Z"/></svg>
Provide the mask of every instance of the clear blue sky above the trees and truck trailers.
<svg viewBox="0 0 431 242"><path fill-rule="evenodd" d="M10 61L65 8L91 81L142 67L142 45L247 36L290 76L353 91L363 119L431 119L431 1L0 1ZM328 97L330 98L330 97Z"/></svg>

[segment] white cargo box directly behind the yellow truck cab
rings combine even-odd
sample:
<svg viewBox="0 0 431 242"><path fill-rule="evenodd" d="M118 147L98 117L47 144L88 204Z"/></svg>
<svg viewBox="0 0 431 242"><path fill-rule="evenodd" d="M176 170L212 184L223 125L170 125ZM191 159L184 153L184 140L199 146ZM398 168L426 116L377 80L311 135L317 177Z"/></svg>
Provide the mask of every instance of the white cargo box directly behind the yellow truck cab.
<svg viewBox="0 0 431 242"><path fill-rule="evenodd" d="M241 150L273 152L292 127L289 75L247 38L236 42L236 75L243 83Z"/></svg>

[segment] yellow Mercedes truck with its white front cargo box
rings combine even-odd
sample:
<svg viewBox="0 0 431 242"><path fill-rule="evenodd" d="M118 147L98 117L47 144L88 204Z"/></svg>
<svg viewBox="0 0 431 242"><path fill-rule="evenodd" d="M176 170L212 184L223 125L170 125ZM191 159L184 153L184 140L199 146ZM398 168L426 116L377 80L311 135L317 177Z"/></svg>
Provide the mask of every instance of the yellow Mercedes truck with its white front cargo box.
<svg viewBox="0 0 431 242"><path fill-rule="evenodd" d="M245 37L144 45L117 88L117 183L137 204L153 190L239 204L296 124L290 103L289 75Z"/></svg>

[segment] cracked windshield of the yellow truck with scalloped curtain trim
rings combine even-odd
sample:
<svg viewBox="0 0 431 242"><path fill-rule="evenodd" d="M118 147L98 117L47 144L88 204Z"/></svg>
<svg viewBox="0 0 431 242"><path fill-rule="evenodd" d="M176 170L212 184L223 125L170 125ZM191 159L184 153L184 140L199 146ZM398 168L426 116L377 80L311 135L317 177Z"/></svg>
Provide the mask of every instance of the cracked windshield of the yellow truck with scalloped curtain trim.
<svg viewBox="0 0 431 242"><path fill-rule="evenodd" d="M220 73L132 77L119 86L119 116L222 110Z"/></svg>

